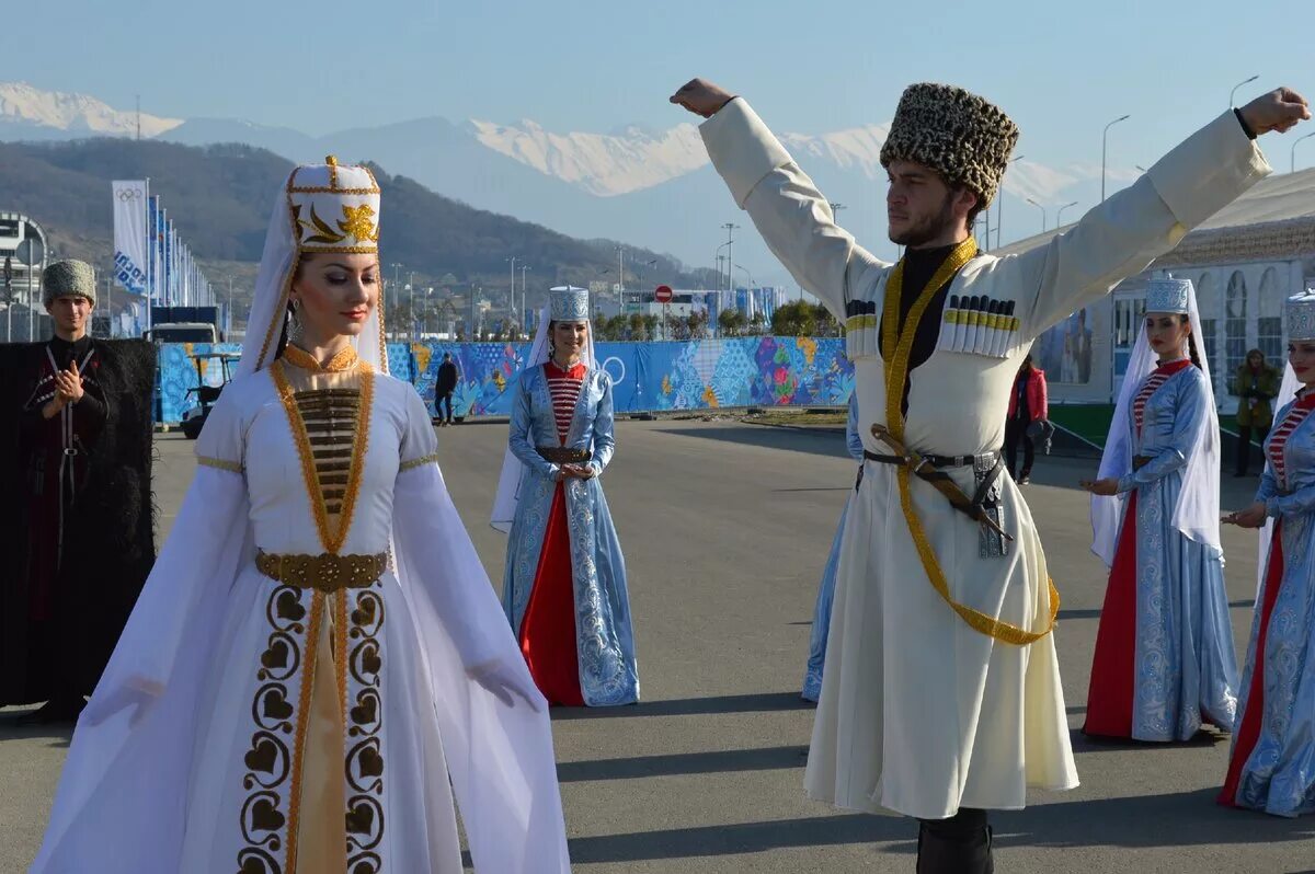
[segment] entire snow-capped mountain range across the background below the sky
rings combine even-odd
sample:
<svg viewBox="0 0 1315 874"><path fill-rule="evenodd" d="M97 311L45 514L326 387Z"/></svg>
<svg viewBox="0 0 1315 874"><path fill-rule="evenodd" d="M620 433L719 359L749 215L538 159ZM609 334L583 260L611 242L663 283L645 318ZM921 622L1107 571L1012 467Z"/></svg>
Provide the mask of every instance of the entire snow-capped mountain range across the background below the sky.
<svg viewBox="0 0 1315 874"><path fill-rule="evenodd" d="M734 222L744 226L736 234L736 267L744 264L759 283L786 281L709 166L698 129L679 116L673 120L677 124L660 131L629 126L598 134L556 133L537 121L504 125L429 117L310 137L238 120L143 114L142 135L192 146L247 143L295 162L318 162L327 154L372 160L479 209L572 237L634 242L690 265L714 264L726 242L722 226ZM0 141L134 134L135 125L135 113L117 112L93 97L0 83ZM844 204L840 222L877 255L890 258L880 162L886 130L873 124L826 134L788 133L781 141L827 197ZM1107 183L1112 191L1135 176L1110 168ZM1002 222L999 242L1009 243L1041 230L1043 221L1053 226L1057 208L1077 201L1064 210L1064 221L1073 221L1099 198L1099 167L1019 160L1005 177L1002 209L992 209L990 229L995 233Z"/></svg>

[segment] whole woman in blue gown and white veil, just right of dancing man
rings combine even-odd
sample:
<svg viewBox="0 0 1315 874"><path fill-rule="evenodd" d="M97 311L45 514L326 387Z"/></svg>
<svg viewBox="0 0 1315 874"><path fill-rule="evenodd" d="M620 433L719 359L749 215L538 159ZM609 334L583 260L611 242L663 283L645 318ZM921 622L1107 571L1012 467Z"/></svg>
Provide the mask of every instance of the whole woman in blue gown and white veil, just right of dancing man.
<svg viewBox="0 0 1315 874"><path fill-rule="evenodd" d="M1219 419L1186 280L1147 289L1094 495L1093 551L1110 568L1086 702L1088 735L1187 740L1237 710L1223 551ZM1122 505L1122 506L1120 506Z"/></svg>

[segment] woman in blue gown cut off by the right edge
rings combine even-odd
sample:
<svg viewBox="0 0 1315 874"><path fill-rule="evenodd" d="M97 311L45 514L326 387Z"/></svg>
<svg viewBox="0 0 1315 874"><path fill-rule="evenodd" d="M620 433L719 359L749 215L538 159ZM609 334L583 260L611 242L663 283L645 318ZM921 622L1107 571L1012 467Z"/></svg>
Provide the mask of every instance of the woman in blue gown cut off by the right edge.
<svg viewBox="0 0 1315 874"><path fill-rule="evenodd" d="M1219 803L1315 812L1315 292L1287 300L1287 363L1256 502L1224 520L1269 522L1241 708ZM1283 403L1283 401L1287 401Z"/></svg>

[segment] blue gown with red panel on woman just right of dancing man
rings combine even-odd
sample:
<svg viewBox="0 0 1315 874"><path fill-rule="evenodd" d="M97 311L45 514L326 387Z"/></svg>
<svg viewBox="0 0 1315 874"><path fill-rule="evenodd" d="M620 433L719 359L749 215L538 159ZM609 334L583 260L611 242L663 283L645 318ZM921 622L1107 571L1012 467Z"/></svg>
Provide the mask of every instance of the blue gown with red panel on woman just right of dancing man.
<svg viewBox="0 0 1315 874"><path fill-rule="evenodd" d="M1232 731L1237 708L1223 553L1174 527L1193 435L1207 415L1206 376L1161 365L1128 410L1144 464L1119 480L1128 494L1097 632L1089 735L1187 740L1210 722Z"/></svg>

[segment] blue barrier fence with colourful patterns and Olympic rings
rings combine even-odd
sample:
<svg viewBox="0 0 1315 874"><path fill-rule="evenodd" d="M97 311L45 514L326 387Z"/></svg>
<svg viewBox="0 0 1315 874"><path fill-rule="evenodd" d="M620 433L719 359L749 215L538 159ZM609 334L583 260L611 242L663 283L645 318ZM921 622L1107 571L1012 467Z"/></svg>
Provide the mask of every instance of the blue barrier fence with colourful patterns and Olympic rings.
<svg viewBox="0 0 1315 874"><path fill-rule="evenodd" d="M233 343L160 347L159 419L176 423L195 405L193 355L239 352ZM454 414L506 415L529 343L389 343L388 367L409 381L434 411L434 380L443 352L460 369ZM706 410L718 406L842 405L853 388L844 340L810 336L744 336L681 343L598 343L598 363L611 376L618 413ZM235 360L234 360L235 368ZM201 359L206 385L224 380L218 359Z"/></svg>

